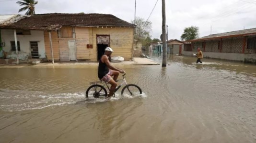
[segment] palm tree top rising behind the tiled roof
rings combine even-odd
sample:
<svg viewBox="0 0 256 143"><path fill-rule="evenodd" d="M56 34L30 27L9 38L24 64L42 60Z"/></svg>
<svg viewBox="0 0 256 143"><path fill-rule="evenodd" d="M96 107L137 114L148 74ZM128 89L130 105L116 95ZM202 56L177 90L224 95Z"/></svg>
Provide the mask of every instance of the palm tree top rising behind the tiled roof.
<svg viewBox="0 0 256 143"><path fill-rule="evenodd" d="M18 3L20 6L24 6L23 8L21 8L19 10L19 12L27 10L27 12L25 13L26 15L35 14L35 5L37 4L37 1L35 1L35 0L20 0L20 1L17 1L16 3Z"/></svg>

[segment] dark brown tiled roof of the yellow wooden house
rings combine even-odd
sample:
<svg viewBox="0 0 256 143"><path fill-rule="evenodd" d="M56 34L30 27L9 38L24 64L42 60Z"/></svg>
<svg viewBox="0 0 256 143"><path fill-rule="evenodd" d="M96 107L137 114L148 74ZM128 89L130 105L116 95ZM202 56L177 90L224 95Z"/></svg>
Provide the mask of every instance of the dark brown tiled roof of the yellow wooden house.
<svg viewBox="0 0 256 143"><path fill-rule="evenodd" d="M13 23L3 23L0 28L28 30L56 30L61 26L88 27L134 27L134 24L121 20L111 14L36 14Z"/></svg>

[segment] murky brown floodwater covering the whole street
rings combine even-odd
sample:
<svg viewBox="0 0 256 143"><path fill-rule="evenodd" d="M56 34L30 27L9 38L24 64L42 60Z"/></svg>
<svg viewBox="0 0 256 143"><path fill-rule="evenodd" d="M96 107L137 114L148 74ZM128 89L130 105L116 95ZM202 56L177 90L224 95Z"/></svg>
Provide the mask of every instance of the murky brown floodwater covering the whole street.
<svg viewBox="0 0 256 143"><path fill-rule="evenodd" d="M109 101L97 65L0 67L0 143L256 143L256 65L196 60L120 65L143 93Z"/></svg>

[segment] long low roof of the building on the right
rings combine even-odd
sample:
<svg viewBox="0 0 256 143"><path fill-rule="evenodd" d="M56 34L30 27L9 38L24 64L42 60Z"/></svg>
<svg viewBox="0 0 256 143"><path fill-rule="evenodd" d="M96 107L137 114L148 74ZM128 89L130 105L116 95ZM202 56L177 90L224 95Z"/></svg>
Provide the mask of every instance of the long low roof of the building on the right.
<svg viewBox="0 0 256 143"><path fill-rule="evenodd" d="M193 39L188 41L202 41L202 40L212 40L212 39L230 38L230 37L248 36L248 35L256 35L256 28L246 29L241 31L231 31L226 33L211 34L208 36L204 36L198 39Z"/></svg>

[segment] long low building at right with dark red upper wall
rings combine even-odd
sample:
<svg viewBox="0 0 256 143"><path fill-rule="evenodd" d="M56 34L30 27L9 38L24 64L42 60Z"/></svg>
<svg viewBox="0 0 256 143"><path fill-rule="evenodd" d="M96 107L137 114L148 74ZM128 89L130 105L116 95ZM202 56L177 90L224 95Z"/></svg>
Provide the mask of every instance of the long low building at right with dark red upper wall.
<svg viewBox="0 0 256 143"><path fill-rule="evenodd" d="M211 34L186 41L184 55L200 48L204 57L256 63L256 28Z"/></svg>

